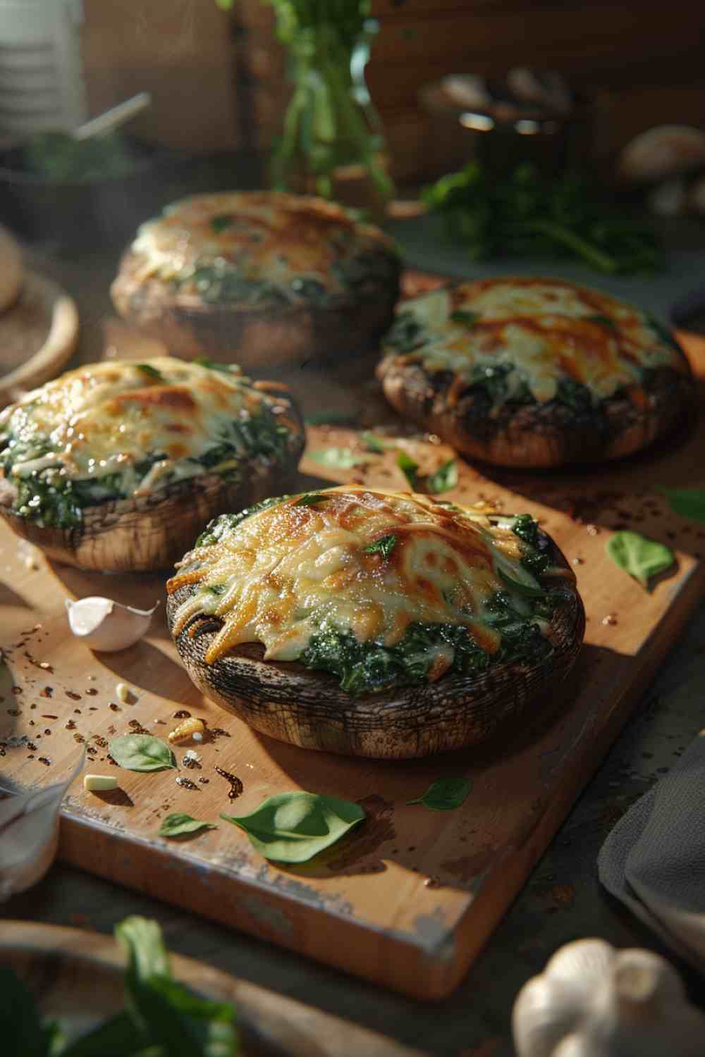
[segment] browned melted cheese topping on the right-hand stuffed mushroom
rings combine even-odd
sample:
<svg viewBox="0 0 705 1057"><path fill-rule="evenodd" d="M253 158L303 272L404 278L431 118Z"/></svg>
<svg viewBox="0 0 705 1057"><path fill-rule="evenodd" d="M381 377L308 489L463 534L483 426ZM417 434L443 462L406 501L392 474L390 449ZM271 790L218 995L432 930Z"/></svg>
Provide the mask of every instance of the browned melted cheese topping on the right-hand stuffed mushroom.
<svg viewBox="0 0 705 1057"><path fill-rule="evenodd" d="M557 279L483 279L404 301L424 331L410 354L430 371L477 381L477 368L508 364L508 393L523 383L540 402L556 396L561 378L587 386L596 398L639 386L641 369L683 371L678 351L638 309L608 294ZM453 313L472 313L470 324Z"/></svg>

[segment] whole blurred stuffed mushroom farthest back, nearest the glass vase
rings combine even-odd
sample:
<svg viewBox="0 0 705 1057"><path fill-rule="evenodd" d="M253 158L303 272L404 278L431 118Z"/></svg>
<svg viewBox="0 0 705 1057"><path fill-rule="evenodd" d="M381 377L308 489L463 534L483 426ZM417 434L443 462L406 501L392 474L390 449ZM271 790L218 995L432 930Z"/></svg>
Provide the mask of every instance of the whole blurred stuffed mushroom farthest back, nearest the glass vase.
<svg viewBox="0 0 705 1057"><path fill-rule="evenodd" d="M219 222L225 226L214 230ZM159 266L150 258L154 241ZM204 295L189 273L216 258L247 281L274 283L274 293L255 301L237 292ZM261 372L370 349L392 320L400 271L387 237L333 203L267 191L214 193L143 225L111 294L119 314L170 353L235 359ZM309 289L297 282L312 279Z"/></svg>

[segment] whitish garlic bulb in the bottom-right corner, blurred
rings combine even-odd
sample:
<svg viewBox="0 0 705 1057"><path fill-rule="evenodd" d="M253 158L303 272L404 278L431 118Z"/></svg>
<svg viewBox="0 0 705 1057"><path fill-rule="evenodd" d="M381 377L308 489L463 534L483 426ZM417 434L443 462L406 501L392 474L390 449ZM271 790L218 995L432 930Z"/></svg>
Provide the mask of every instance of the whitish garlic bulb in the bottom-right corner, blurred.
<svg viewBox="0 0 705 1057"><path fill-rule="evenodd" d="M512 1027L517 1057L702 1057L705 1014L658 954L578 940L524 984Z"/></svg>

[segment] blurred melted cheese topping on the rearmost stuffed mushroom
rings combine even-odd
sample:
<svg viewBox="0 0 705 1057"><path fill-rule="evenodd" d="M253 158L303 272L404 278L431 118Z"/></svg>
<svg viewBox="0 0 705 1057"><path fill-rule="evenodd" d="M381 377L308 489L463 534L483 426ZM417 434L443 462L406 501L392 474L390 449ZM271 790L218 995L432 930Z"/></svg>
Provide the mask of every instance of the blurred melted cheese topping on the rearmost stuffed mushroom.
<svg viewBox="0 0 705 1057"><path fill-rule="evenodd" d="M266 280L294 297L294 279L315 279L346 292L331 267L341 258L392 252L378 228L350 219L321 199L276 191L199 194L177 202L143 224L132 243L137 279L188 278L206 264L237 266L244 279Z"/></svg>

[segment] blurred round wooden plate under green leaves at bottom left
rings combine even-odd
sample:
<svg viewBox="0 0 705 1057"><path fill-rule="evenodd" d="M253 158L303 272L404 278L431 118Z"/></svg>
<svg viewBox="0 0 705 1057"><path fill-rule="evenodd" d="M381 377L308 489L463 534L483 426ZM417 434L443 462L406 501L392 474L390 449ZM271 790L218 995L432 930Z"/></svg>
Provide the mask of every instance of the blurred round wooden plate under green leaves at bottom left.
<svg viewBox="0 0 705 1057"><path fill-rule="evenodd" d="M242 1057L414 1057L420 1051L237 980L203 962L169 956L172 976L237 1009ZM0 965L24 980L43 1016L79 1038L124 1007L125 958L112 937L4 921Z"/></svg>

